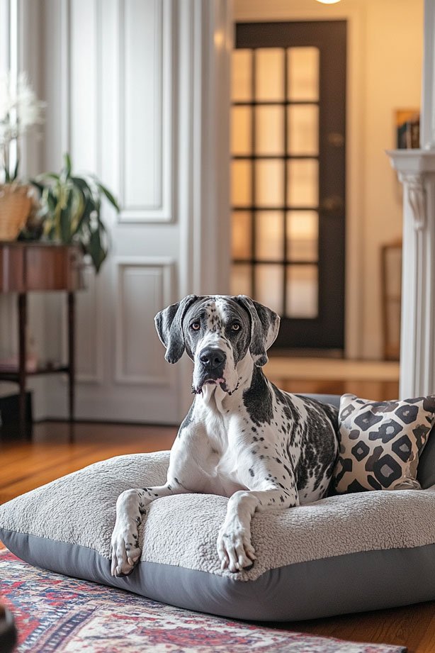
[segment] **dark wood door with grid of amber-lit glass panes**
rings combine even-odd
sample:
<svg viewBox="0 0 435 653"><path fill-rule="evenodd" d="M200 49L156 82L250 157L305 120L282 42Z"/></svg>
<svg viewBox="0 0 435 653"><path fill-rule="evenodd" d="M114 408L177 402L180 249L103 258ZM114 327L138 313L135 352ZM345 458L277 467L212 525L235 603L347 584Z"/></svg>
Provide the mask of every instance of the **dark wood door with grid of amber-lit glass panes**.
<svg viewBox="0 0 435 653"><path fill-rule="evenodd" d="M238 23L232 291L281 315L275 347L344 348L346 22Z"/></svg>

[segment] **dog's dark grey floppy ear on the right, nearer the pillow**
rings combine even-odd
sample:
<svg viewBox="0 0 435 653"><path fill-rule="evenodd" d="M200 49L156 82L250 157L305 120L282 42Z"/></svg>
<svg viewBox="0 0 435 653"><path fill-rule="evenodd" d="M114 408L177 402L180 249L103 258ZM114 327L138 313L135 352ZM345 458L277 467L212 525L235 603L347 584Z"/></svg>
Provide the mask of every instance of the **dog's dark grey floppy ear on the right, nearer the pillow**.
<svg viewBox="0 0 435 653"><path fill-rule="evenodd" d="M237 295L234 299L249 313L251 318L249 352L256 367L263 367L269 360L266 351L278 335L280 321L278 313L246 295Z"/></svg>

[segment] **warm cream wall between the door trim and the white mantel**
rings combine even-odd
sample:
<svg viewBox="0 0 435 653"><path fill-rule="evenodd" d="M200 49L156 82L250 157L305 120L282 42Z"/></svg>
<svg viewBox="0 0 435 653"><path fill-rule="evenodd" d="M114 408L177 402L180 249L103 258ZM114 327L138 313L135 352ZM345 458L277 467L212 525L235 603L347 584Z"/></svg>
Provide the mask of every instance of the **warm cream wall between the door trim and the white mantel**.
<svg viewBox="0 0 435 653"><path fill-rule="evenodd" d="M402 234L402 186L384 150L395 147L395 110L421 104L423 0L365 1L363 355L378 357L378 252Z"/></svg>

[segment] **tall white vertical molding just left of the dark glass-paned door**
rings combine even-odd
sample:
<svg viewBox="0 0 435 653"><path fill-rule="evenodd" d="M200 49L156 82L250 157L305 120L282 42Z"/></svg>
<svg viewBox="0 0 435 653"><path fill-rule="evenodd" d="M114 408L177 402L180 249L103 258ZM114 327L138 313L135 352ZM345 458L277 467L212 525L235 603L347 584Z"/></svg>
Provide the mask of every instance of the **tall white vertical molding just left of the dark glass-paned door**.
<svg viewBox="0 0 435 653"><path fill-rule="evenodd" d="M232 3L177 4L178 298L230 291L230 57ZM179 362L181 414L192 369Z"/></svg>

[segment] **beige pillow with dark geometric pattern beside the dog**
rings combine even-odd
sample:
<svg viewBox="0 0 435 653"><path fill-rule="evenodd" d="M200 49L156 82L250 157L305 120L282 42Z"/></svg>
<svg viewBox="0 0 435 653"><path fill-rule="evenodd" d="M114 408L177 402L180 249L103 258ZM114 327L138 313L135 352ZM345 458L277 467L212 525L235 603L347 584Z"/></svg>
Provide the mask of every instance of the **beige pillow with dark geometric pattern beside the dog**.
<svg viewBox="0 0 435 653"><path fill-rule="evenodd" d="M332 487L339 494L419 489L419 454L434 421L435 396L368 401L344 394Z"/></svg>

